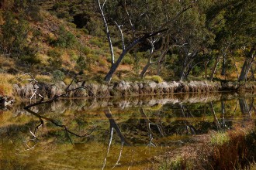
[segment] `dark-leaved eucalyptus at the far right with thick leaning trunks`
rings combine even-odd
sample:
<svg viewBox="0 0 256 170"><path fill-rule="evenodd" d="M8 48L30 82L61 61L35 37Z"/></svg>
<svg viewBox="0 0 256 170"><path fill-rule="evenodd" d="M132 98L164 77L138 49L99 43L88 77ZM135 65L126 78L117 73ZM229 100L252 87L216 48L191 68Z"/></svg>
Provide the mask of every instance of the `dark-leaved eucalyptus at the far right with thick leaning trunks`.
<svg viewBox="0 0 256 170"><path fill-rule="evenodd" d="M246 80L247 74L254 63L255 57L255 2L253 0L220 1L209 8L207 22L209 29L216 34L215 48L219 51L213 66L210 80L216 72L216 67L223 58L223 73L225 73L225 59L230 50L243 51L244 65L238 80ZM236 70L237 70L237 66Z"/></svg>

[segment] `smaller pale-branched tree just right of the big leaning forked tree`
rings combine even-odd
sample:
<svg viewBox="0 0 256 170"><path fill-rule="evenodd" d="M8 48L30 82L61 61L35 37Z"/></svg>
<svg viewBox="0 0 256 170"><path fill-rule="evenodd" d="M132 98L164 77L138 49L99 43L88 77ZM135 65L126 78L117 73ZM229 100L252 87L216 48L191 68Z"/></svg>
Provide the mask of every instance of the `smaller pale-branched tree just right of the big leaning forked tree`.
<svg viewBox="0 0 256 170"><path fill-rule="evenodd" d="M168 31L164 32L160 37L147 39L148 42L150 42L150 54L147 58L147 64L140 73L140 77L142 78L153 63L157 63L157 74L160 75L161 66L164 63L166 54L176 45L172 40L173 27L175 26L176 21L182 17L183 13L187 12L194 5L194 2L168 0L155 2L157 3L156 5L154 5L154 3L148 5L148 1L145 3L147 4L147 12L145 15L148 19L148 22L146 23L149 24L148 27L150 28L150 31L152 32L154 29L157 30L163 26L168 27ZM156 48L157 45L158 48ZM152 61L153 59L154 61Z"/></svg>

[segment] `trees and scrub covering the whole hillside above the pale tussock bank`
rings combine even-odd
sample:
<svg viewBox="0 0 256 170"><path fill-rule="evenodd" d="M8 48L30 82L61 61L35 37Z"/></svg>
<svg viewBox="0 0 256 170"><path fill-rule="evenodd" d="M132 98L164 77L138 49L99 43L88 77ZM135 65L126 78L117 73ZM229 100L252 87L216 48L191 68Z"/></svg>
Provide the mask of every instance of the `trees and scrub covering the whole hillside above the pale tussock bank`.
<svg viewBox="0 0 256 170"><path fill-rule="evenodd" d="M107 0L103 13L92 0L0 3L0 58L14 59L12 66L1 65L1 72L64 69L92 79L147 76L157 83L254 80L256 15L251 0Z"/></svg>

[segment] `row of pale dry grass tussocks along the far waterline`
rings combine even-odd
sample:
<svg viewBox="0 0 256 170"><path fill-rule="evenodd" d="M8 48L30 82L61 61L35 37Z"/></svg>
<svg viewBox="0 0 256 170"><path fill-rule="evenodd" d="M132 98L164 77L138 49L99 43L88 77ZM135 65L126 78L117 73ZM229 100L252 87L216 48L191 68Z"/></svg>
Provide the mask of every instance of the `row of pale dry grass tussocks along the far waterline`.
<svg viewBox="0 0 256 170"><path fill-rule="evenodd" d="M38 93L44 97L54 97L64 93L67 85L64 82L59 83L38 83ZM71 89L81 87L81 83L74 83ZM120 81L119 83L97 84L85 83L85 89L71 91L68 97L125 97L125 96L138 96L144 94L169 94L169 93L209 93L223 90L256 90L255 83L237 83L237 82L209 82L209 81L190 81L190 82L162 82L155 83L154 81L144 82L126 82ZM26 84L20 86L19 84L13 85L13 95L21 98L29 98L33 96L35 87L33 84Z"/></svg>

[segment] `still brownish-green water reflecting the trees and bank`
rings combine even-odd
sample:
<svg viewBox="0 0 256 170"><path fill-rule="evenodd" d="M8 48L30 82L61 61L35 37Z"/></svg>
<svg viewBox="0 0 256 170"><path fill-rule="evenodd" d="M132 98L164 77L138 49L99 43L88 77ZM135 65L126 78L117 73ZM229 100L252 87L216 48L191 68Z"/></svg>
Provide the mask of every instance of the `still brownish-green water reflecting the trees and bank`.
<svg viewBox="0 0 256 170"><path fill-rule="evenodd" d="M254 119L254 98L193 93L58 100L29 112L16 104L0 109L0 169L150 168L158 155L196 134Z"/></svg>

